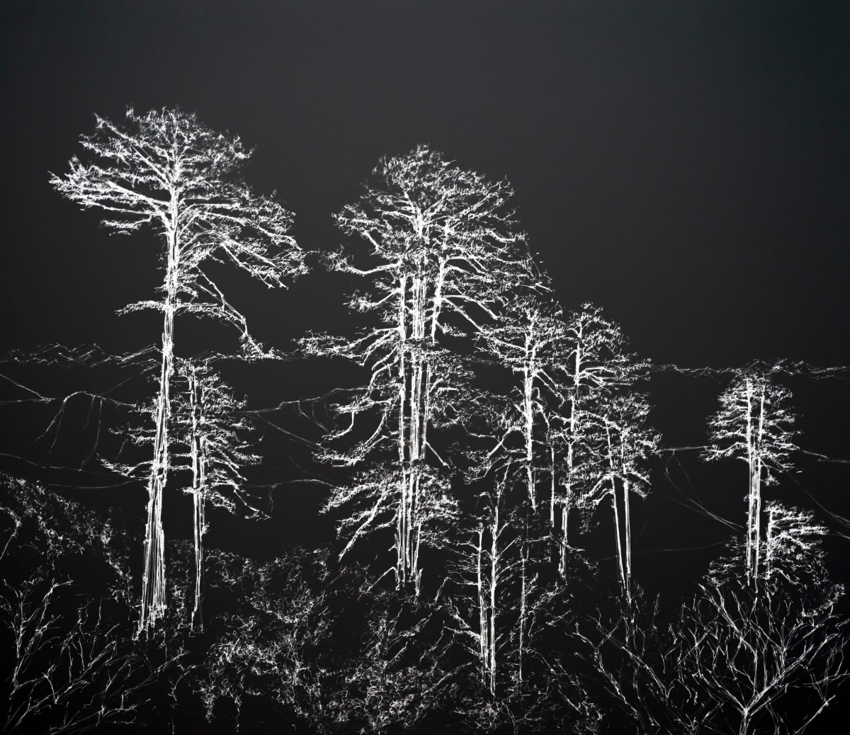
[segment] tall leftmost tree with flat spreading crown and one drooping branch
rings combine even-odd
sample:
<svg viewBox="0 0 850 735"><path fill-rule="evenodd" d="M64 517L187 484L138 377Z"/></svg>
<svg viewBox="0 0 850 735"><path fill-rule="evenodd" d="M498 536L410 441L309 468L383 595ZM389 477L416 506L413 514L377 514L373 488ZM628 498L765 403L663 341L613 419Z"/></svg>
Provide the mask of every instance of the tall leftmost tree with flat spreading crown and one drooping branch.
<svg viewBox="0 0 850 735"><path fill-rule="evenodd" d="M126 127L98 117L82 147L93 162L71 160L71 171L50 179L54 189L82 207L106 212L105 227L119 234L144 225L161 238L161 297L136 302L124 313L152 308L163 319L156 433L148 479L139 632L165 612L165 538L162 492L170 467L170 382L174 371L174 318L209 316L235 325L248 357L263 353L243 315L224 297L203 266L230 263L266 286L305 270L303 252L286 232L292 215L274 199L256 195L239 177L251 155L241 140L215 133L179 110L127 111Z"/></svg>

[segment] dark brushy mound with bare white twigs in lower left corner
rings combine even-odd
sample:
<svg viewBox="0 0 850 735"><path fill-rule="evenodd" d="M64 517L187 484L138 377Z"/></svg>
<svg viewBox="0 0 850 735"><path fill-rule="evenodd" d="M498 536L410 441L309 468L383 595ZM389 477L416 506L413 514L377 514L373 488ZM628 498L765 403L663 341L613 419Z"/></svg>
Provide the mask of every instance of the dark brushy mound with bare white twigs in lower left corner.
<svg viewBox="0 0 850 735"><path fill-rule="evenodd" d="M4 732L149 720L180 655L133 640L122 529L38 484L3 476L0 494Z"/></svg>

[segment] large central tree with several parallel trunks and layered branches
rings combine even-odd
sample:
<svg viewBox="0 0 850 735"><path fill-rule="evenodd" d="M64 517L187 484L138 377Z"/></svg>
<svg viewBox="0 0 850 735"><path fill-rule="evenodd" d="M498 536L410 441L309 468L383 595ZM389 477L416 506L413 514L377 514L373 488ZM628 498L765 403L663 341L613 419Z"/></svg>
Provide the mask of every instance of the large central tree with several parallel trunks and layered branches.
<svg viewBox="0 0 850 735"><path fill-rule="evenodd" d="M479 333L511 290L535 280L507 208L511 195L506 182L490 183L425 146L382 159L360 200L336 218L344 233L365 241L377 262L359 268L337 253L329 263L369 279L368 290L355 294L350 306L376 314L379 325L354 340L302 341L307 353L345 357L371 374L352 400L335 406L337 415L350 416L350 425L326 441L337 446L334 440L351 433L358 416L371 415L367 438L323 456L343 466L377 462L385 468L377 479L382 491L375 492L375 471L366 470L365 483L346 486L331 506L363 501L351 541L386 526L387 512L392 514L397 585L412 585L416 592L422 511L439 505L425 499L433 485L428 473L447 466L430 433L463 420L469 380L450 341L467 331Z"/></svg>

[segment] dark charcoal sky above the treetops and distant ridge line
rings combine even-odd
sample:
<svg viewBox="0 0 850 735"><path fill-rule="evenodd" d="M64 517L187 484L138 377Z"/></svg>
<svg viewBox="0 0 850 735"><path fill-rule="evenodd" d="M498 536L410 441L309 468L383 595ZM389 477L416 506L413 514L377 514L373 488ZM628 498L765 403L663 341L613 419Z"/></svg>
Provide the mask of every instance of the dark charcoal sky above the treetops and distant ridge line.
<svg viewBox="0 0 850 735"><path fill-rule="evenodd" d="M850 362L847 2L14 0L0 28L3 348L156 340L114 316L150 297L156 243L48 172L94 112L180 105L256 147L246 178L305 248L337 246L380 155L427 143L507 177L564 306L655 362ZM262 297L264 339L332 322L323 278Z"/></svg>

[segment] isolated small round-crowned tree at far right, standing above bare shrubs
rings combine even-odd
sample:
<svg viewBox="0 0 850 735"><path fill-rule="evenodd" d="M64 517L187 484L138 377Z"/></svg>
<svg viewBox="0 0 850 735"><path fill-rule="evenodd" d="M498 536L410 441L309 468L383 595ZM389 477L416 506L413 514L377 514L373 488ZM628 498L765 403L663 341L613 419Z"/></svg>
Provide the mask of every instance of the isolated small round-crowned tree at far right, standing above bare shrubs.
<svg viewBox="0 0 850 735"><path fill-rule="evenodd" d="M749 472L745 562L747 579L757 585L762 549L762 484L777 482L777 473L791 470L795 449L791 431L795 416L787 408L791 393L767 376L745 372L721 393L720 410L709 420L711 446L707 461L732 457L745 461Z"/></svg>

